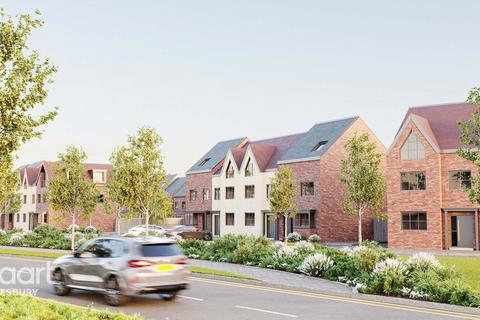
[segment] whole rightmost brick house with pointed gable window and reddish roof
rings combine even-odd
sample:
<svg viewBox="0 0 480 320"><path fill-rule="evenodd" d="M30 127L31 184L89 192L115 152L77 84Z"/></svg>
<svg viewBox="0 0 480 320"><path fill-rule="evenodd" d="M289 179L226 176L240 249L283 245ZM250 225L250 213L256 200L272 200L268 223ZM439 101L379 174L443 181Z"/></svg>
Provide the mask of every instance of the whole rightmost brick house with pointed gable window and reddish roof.
<svg viewBox="0 0 480 320"><path fill-rule="evenodd" d="M477 249L478 206L462 187L475 166L456 155L466 103L410 108L387 152L388 237L392 248Z"/></svg>

